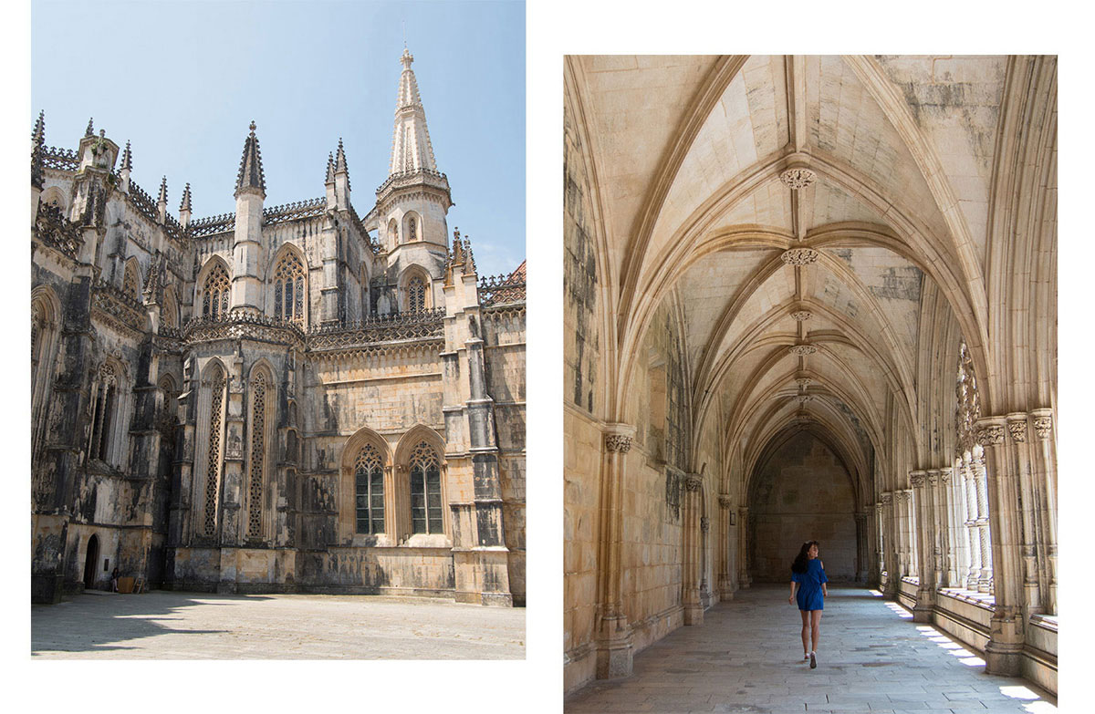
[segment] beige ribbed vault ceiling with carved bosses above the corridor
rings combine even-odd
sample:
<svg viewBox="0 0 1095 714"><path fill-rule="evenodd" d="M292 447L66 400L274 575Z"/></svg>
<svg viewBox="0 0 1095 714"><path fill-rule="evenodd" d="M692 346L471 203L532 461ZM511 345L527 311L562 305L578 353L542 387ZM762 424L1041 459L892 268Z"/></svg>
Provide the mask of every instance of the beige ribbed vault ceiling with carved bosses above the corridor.
<svg viewBox="0 0 1095 714"><path fill-rule="evenodd" d="M925 281L965 296L965 313L983 299L967 286L986 262L1007 58L613 56L572 69L613 237L621 368L677 299L696 427L723 419L746 461L812 428L867 469L888 398L914 418ZM788 188L792 164L816 181ZM795 246L820 256L784 264Z"/></svg>

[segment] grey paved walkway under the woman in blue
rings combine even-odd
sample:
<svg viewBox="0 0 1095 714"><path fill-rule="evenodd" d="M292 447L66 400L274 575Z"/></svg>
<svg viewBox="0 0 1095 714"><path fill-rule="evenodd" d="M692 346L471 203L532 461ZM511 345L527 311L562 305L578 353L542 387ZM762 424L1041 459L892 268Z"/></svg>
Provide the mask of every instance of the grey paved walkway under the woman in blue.
<svg viewBox="0 0 1095 714"><path fill-rule="evenodd" d="M871 591L832 587L818 667L802 663L802 621L787 588L740 590L635 657L634 675L566 698L586 712L1052 712L1022 679L991 677L941 631Z"/></svg>

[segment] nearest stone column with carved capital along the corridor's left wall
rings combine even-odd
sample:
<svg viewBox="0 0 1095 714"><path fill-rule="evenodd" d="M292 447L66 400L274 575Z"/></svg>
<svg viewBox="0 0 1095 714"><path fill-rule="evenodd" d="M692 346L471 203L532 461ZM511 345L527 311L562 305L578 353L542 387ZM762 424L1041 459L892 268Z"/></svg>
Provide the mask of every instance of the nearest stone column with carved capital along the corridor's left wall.
<svg viewBox="0 0 1095 714"><path fill-rule="evenodd" d="M632 631L623 612L623 482L627 451L635 427L610 424L604 430L601 469L600 553L597 571L597 678L629 677L632 671Z"/></svg>

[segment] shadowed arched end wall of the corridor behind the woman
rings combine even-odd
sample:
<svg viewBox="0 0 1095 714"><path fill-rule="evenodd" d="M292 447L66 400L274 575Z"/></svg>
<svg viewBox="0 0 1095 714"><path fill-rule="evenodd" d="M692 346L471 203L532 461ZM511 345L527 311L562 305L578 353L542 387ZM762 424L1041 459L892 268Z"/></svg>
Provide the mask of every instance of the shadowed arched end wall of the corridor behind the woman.
<svg viewBox="0 0 1095 714"><path fill-rule="evenodd" d="M829 579L854 580L852 483L832 451L812 435L799 433L761 464L753 479L752 578L789 581L799 548L816 540Z"/></svg>

